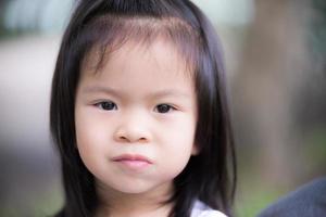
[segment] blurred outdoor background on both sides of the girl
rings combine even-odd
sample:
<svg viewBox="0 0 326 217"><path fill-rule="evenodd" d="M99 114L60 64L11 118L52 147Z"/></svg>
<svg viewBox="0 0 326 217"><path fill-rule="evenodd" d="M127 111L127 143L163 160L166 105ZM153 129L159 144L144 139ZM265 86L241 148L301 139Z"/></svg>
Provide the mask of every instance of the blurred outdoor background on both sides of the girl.
<svg viewBox="0 0 326 217"><path fill-rule="evenodd" d="M326 1L193 0L224 46L238 152L236 214L326 175ZM74 0L0 0L0 216L63 202L50 84Z"/></svg>

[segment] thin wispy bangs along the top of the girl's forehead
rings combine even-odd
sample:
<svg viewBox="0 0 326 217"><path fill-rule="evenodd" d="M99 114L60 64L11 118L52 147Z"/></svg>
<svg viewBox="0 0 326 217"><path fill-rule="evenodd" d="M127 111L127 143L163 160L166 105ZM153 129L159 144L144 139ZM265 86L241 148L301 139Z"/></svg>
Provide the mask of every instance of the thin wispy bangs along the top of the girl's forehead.
<svg viewBox="0 0 326 217"><path fill-rule="evenodd" d="M80 55L84 56L80 60L82 68L91 62L95 72L125 43L131 42L148 49L158 39L171 43L191 76L198 68L201 44L199 34L177 17L103 15L89 21L76 39L77 44L85 48L85 53Z"/></svg>

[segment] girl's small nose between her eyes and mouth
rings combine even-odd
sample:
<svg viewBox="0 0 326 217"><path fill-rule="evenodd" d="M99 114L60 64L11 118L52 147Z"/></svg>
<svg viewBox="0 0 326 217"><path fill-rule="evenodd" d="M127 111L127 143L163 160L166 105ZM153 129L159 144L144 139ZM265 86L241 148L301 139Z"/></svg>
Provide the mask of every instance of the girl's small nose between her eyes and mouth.
<svg viewBox="0 0 326 217"><path fill-rule="evenodd" d="M114 139L124 143L147 143L151 140L151 133L143 118L128 115L116 128Z"/></svg>

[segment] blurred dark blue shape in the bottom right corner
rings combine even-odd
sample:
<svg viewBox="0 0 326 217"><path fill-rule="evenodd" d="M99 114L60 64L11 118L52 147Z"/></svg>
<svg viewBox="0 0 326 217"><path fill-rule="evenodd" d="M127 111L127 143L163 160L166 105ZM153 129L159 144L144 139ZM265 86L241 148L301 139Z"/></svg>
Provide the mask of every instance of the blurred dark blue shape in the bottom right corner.
<svg viewBox="0 0 326 217"><path fill-rule="evenodd" d="M326 213L326 177L306 183L298 190L279 199L264 209L259 217L272 216L314 216Z"/></svg>

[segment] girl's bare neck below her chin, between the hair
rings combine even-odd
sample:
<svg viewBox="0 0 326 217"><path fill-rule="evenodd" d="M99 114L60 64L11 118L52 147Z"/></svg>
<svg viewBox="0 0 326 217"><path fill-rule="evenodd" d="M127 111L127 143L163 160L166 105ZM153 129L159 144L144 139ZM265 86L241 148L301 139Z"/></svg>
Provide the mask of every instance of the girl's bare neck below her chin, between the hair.
<svg viewBox="0 0 326 217"><path fill-rule="evenodd" d="M145 193L123 193L98 187L100 203L96 217L167 217L173 207L173 203L166 203L171 192L171 186Z"/></svg>

